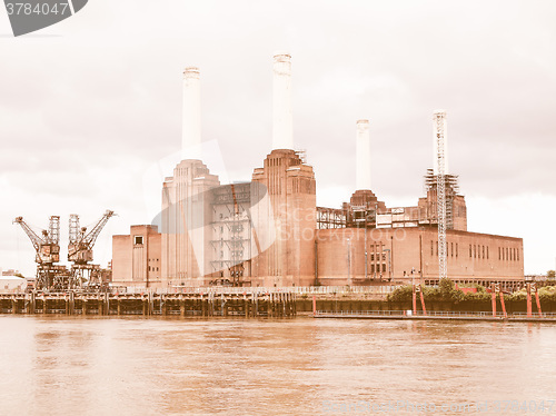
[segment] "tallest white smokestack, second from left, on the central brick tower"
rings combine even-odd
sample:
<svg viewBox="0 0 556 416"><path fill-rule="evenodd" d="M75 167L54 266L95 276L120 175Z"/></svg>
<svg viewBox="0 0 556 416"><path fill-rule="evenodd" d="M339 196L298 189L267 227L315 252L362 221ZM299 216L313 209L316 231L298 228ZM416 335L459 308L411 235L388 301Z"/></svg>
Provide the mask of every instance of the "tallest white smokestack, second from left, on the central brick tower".
<svg viewBox="0 0 556 416"><path fill-rule="evenodd" d="M275 53L272 98L272 149L292 149L291 56Z"/></svg>

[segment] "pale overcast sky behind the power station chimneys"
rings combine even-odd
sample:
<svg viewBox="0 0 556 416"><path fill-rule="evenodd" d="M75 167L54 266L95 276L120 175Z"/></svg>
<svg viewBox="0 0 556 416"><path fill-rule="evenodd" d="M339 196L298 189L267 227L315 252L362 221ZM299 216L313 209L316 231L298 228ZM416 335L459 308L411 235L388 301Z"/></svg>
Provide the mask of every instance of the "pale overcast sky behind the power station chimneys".
<svg viewBox="0 0 556 416"><path fill-rule="evenodd" d="M449 167L468 230L523 237L526 274L556 261L556 2L91 0L13 38L0 9L0 267L32 275L11 224L69 214L111 235L148 224L181 147L182 68L201 70L202 137L230 180L249 180L271 146L272 55L288 50L294 135L317 200L355 190L355 127L370 119L373 189L416 205L431 167L431 115L447 110ZM171 175L166 171L163 175ZM147 184L147 185L146 185Z"/></svg>

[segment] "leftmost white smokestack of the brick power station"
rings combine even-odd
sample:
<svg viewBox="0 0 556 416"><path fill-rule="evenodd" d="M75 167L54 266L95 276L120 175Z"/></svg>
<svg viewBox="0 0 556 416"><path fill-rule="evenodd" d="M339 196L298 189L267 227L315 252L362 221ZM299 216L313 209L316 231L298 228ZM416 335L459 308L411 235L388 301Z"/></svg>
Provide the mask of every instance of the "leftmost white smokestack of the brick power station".
<svg viewBox="0 0 556 416"><path fill-rule="evenodd" d="M181 153L182 159L200 159L201 145L201 89L197 67L183 70Z"/></svg>

